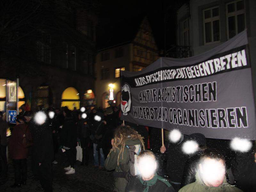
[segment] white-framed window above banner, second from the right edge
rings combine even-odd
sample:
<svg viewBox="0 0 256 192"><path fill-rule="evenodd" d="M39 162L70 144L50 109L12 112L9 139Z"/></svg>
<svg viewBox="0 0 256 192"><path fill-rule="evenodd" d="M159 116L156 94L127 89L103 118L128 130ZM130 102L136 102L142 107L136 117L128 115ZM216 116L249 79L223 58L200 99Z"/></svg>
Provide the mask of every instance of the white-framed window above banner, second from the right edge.
<svg viewBox="0 0 256 192"><path fill-rule="evenodd" d="M219 7L203 10L204 44L220 41L220 11Z"/></svg>

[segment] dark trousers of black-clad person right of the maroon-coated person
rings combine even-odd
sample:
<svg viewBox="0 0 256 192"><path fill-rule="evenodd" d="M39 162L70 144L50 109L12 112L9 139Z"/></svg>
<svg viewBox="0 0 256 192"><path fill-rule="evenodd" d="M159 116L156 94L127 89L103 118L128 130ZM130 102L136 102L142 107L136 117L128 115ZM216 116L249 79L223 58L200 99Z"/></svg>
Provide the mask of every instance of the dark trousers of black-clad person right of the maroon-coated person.
<svg viewBox="0 0 256 192"><path fill-rule="evenodd" d="M44 192L52 192L52 162L37 164L37 170Z"/></svg>

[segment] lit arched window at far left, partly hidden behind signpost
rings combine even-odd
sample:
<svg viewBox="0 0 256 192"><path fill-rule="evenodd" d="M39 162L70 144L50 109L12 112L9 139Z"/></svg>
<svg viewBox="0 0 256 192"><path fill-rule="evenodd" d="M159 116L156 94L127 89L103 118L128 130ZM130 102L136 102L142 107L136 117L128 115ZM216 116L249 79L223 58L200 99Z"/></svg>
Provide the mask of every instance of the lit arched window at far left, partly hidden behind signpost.
<svg viewBox="0 0 256 192"><path fill-rule="evenodd" d="M25 96L23 90L19 87L18 89L18 98L20 107L25 103ZM5 101L6 101L6 79L0 79L0 111L5 112Z"/></svg>

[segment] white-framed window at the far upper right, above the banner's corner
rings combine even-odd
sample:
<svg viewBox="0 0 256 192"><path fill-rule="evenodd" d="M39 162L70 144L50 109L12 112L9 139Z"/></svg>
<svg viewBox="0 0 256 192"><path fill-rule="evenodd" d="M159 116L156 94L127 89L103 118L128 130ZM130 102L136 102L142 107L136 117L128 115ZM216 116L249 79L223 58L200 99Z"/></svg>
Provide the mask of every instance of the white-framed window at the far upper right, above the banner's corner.
<svg viewBox="0 0 256 192"><path fill-rule="evenodd" d="M228 39L242 32L245 28L244 1L237 0L226 4Z"/></svg>

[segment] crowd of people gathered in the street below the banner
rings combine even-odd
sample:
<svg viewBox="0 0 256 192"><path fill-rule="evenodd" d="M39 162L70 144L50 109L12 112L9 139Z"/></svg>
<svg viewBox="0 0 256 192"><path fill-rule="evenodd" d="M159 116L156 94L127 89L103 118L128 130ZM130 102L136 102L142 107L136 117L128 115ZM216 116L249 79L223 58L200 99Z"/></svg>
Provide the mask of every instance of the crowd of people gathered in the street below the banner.
<svg viewBox="0 0 256 192"><path fill-rule="evenodd" d="M75 174L76 146L80 143L80 164L88 166L91 157L95 169L112 171L116 192L254 191L255 146L245 153L235 153L228 149L228 141L206 139L200 133L181 134L172 143L167 132L163 145L160 129L128 122L124 125L116 106L104 110L48 108L43 112L48 117L38 123L36 113L21 111L10 138L6 136L9 125L0 112L2 184L7 181L7 147L14 168L10 187L26 185L27 167L31 166L30 177L38 179L44 191L51 192L52 164L58 163L55 155L61 150L68 159L67 167L63 167L65 174ZM189 140L196 141L198 150L188 155L182 145Z"/></svg>

